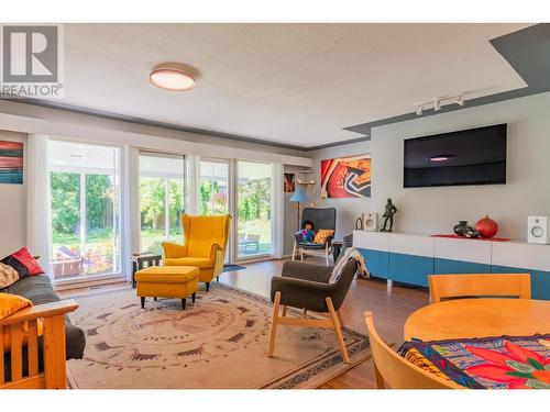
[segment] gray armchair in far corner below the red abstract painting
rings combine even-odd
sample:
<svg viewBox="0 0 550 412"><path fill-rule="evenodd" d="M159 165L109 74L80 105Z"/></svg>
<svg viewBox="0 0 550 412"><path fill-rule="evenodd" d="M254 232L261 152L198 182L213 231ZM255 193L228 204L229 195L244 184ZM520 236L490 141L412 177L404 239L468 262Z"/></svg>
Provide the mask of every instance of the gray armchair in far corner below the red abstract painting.
<svg viewBox="0 0 550 412"><path fill-rule="evenodd" d="M301 224L304 227L306 221L311 221L314 223L315 231L320 229L336 230L337 227L337 210L334 208L305 208L301 212ZM300 255L300 259L304 255L315 255L324 257L327 266L329 266L329 255L332 238L334 236L329 236L324 244L315 244L301 242L301 237L298 233L294 235L294 250L293 260L296 254Z"/></svg>

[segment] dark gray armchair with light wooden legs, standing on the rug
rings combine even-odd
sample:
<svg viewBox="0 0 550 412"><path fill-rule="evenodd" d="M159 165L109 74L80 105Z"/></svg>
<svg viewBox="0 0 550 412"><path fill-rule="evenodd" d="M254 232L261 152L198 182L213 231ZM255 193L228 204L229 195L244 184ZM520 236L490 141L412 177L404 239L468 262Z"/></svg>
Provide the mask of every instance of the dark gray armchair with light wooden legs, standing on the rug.
<svg viewBox="0 0 550 412"><path fill-rule="evenodd" d="M338 281L329 283L331 266L311 265L301 261L286 261L280 277L272 279L273 321L267 355L273 356L275 335L278 325L315 326L334 330L343 360L349 364L350 357L341 331L342 305L350 285L355 276L356 261L350 259L343 267ZM279 313L279 307L283 313ZM287 307L302 310L302 318L287 316ZM307 311L328 313L329 318L307 318Z"/></svg>

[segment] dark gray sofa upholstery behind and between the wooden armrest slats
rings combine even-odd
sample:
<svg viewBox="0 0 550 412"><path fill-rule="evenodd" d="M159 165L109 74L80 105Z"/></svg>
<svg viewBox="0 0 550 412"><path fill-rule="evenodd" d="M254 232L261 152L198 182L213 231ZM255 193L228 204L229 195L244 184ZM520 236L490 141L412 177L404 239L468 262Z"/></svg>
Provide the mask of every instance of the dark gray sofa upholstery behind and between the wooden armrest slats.
<svg viewBox="0 0 550 412"><path fill-rule="evenodd" d="M29 299L34 305L57 302L61 300L59 297L55 294L50 278L46 275L28 276L8 288L0 289L0 292L19 294ZM81 359L84 348L86 347L86 336L80 327L70 323L68 315L65 316L65 335L67 360ZM40 338L38 345L40 354L42 354L42 338ZM25 349L26 348L23 350L23 375L28 372ZM42 357L40 357L38 363L42 370ZM6 381L11 380L10 353L4 355L4 378Z"/></svg>

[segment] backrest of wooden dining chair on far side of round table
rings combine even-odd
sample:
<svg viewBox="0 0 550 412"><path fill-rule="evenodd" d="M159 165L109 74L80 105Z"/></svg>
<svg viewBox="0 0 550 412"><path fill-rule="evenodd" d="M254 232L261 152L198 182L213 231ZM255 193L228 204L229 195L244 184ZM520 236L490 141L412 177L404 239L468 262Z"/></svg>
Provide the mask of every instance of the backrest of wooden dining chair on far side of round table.
<svg viewBox="0 0 550 412"><path fill-rule="evenodd" d="M432 303L446 298L517 297L531 299L529 274L429 275Z"/></svg>

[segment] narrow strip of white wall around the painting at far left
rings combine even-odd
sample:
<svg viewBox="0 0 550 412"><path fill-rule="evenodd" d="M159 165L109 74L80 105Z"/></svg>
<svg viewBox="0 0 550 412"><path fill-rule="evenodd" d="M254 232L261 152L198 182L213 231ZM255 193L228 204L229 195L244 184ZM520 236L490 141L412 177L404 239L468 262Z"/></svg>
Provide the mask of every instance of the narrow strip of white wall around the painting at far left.
<svg viewBox="0 0 550 412"><path fill-rule="evenodd" d="M0 183L0 259L26 244L26 134L0 131L0 141L23 142L23 185Z"/></svg>

